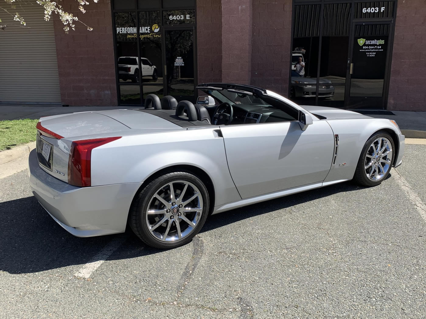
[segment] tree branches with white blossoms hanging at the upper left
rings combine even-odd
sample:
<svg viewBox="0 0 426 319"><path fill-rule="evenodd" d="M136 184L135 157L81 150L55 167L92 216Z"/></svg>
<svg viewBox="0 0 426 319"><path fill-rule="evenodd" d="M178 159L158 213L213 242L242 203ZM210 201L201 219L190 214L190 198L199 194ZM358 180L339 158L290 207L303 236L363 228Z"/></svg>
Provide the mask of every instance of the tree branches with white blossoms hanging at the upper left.
<svg viewBox="0 0 426 319"><path fill-rule="evenodd" d="M11 9L16 9L16 4L20 3L20 0L3 0L5 1ZM62 0L58 0L62 1ZM89 1L86 0L75 0L78 2L79 6L78 9L82 13L86 12L86 9L84 9L84 6L89 4ZM75 30L75 22L82 23L84 26L86 26L87 30L92 31L93 28L86 25L86 23L83 23L81 20L78 20L78 17L75 17L72 13L66 12L63 10L63 7L56 1L50 1L50 0L37 0L37 4L43 7L44 9L44 20L49 21L52 17L52 14L58 14L58 17L60 21L64 24L64 31L68 33L69 29ZM98 0L93 0L94 3L97 3ZM3 11L13 16L13 20L20 22L20 24L26 26L26 22L24 18L19 14L19 12L15 12L15 14L10 13L7 9L0 7ZM12 11L12 10L11 10ZM14 10L15 11L15 10ZM0 19L1 22L1 19ZM6 28L6 25L3 25L4 28Z"/></svg>

